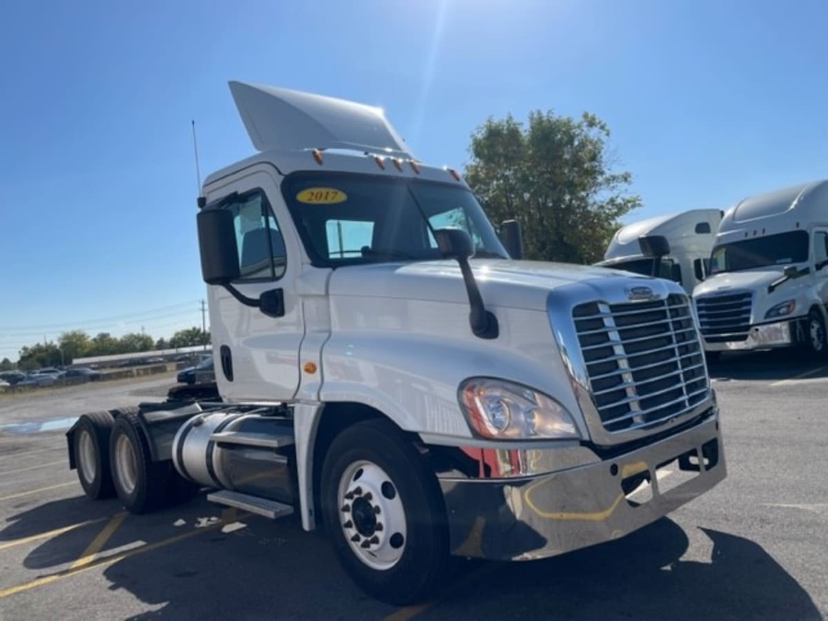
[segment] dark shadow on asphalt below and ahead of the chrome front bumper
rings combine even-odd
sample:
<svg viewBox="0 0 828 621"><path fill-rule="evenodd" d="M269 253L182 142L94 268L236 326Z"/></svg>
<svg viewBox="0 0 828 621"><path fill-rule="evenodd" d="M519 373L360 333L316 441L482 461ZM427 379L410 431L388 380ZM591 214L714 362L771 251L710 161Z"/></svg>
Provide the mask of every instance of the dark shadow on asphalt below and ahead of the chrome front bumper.
<svg viewBox="0 0 828 621"><path fill-rule="evenodd" d="M682 559L687 535L662 518L617 542L507 566L446 601L440 617L474 606L474 616L491 619L509 610L590 621L822 619L806 590L758 543L700 530L713 545L710 561Z"/></svg>

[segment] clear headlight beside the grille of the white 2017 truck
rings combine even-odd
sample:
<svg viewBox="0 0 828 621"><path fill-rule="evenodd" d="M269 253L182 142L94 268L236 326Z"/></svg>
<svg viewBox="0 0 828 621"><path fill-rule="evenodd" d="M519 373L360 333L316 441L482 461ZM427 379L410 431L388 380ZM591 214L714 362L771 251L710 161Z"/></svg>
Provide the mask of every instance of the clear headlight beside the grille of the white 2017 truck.
<svg viewBox="0 0 828 621"><path fill-rule="evenodd" d="M520 384L471 378L460 384L460 405L469 426L494 440L580 439L575 421L560 403Z"/></svg>

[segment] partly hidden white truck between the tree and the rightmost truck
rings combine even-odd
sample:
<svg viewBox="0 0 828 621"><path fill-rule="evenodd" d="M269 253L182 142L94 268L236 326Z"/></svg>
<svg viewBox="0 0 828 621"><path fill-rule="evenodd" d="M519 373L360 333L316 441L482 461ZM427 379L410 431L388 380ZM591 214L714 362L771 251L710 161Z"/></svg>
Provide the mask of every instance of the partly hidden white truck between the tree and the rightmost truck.
<svg viewBox="0 0 828 621"><path fill-rule="evenodd" d="M625 224L615 232L604 261L597 265L667 278L690 294L705 278L723 213L720 209L688 209ZM653 256L646 243L655 236L667 241L667 252L660 257Z"/></svg>

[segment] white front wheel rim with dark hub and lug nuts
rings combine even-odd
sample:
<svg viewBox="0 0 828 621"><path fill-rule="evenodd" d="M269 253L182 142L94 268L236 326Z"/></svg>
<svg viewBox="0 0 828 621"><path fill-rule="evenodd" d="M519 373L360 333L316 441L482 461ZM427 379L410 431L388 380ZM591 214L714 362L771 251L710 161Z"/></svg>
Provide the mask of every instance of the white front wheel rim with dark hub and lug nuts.
<svg viewBox="0 0 828 621"><path fill-rule="evenodd" d="M339 524L354 555L368 567L388 570L408 542L405 507L388 473L366 460L349 465L339 479Z"/></svg>

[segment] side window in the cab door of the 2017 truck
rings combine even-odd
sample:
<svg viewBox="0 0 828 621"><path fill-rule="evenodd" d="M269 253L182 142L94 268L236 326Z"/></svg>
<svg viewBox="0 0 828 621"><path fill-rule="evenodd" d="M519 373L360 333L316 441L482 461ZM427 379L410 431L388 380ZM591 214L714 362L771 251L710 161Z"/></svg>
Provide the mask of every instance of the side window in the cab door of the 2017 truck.
<svg viewBox="0 0 828 621"><path fill-rule="evenodd" d="M241 279L284 276L285 242L262 190L239 197L225 209L233 214Z"/></svg>

